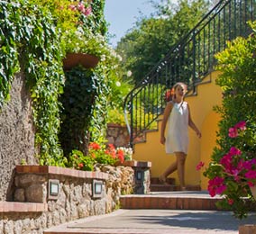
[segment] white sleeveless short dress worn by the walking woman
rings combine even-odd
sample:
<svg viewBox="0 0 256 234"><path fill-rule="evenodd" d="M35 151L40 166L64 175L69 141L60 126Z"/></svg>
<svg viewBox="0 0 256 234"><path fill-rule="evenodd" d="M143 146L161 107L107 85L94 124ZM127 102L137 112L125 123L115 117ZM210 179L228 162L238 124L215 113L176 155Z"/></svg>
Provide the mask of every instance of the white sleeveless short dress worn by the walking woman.
<svg viewBox="0 0 256 234"><path fill-rule="evenodd" d="M165 149L167 154L183 152L188 147L188 107L187 102L174 103L167 123Z"/></svg>

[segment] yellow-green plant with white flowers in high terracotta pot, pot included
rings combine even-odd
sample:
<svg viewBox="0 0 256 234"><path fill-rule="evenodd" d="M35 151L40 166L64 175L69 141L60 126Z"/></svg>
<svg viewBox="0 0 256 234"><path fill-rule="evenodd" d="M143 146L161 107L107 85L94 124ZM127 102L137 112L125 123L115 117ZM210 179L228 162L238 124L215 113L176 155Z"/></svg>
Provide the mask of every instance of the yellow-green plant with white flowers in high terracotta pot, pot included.
<svg viewBox="0 0 256 234"><path fill-rule="evenodd" d="M50 10L56 19L63 54L63 67L78 65L96 67L111 57L112 49L105 40L104 15L95 14L100 1L34 0Z"/></svg>

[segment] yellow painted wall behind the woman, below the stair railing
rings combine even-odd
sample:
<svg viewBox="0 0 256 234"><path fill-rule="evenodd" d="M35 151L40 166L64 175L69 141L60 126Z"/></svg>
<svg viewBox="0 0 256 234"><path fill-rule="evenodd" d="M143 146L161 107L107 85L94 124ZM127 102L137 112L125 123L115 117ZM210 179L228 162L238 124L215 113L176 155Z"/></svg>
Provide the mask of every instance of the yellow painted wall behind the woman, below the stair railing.
<svg viewBox="0 0 256 234"><path fill-rule="evenodd" d="M197 127L202 132L202 138L198 139L195 132L189 129L189 147L186 162L186 184L201 185L206 189L207 181L202 175L202 171L197 171L196 166L200 161L208 164L213 148L215 147L217 123L220 119L213 111L213 106L221 104L222 91L215 85L217 72L207 76L206 84L197 86L197 95L187 96L191 116ZM160 129L161 121L159 122ZM134 146L133 158L139 161L151 161L151 177L158 177L169 164L175 161L174 155L167 155L164 146L160 144L160 130L148 132L146 143L138 143ZM170 177L174 177L178 184L178 175L175 172Z"/></svg>

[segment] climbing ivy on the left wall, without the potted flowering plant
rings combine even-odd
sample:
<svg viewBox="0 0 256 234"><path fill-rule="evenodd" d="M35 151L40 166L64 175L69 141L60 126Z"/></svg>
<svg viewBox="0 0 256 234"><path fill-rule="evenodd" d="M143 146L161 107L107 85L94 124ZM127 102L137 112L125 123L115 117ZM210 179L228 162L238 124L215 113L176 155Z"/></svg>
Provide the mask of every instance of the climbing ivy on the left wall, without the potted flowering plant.
<svg viewBox="0 0 256 234"><path fill-rule="evenodd" d="M38 157L41 165L65 166L63 150L59 143L59 111L63 110L59 97L63 94L65 85L62 59L65 58L69 49L67 44L63 46L64 32L74 31L77 19L82 21L82 29L90 32L85 34L90 35L92 41L96 39L92 37L91 32L97 33L97 37L100 38L100 35L103 37L106 31L103 14L104 0L95 0L91 3L93 14L90 17L81 17L77 12L70 12L67 7L62 11L60 2L65 2L66 6L70 3L66 0L0 2L0 108L9 99L14 75L17 72L23 73L32 97L32 115L36 130L35 145L39 149ZM61 9L61 12L58 12L58 9ZM68 23L65 22L65 17ZM90 25L91 30L88 31ZM84 106L88 114L92 114L91 118L78 118L75 121L69 121L69 124L80 121L79 124L85 124L82 129L90 130L93 136L100 135L99 132L105 124L103 120L105 108L102 107L106 103L101 103L100 96L107 94L108 81L105 76L113 65L106 59L111 57L111 52L105 45L104 38L96 42L90 44L89 51L96 51L96 55L99 56L101 64L98 68L94 71L85 71L76 67L72 73L66 73L68 83L75 81L76 77L82 84L87 83L83 88L87 92L91 90L92 93L84 98L87 100L94 96L92 103L95 103L89 106L91 103L86 102ZM81 87L77 85L77 88L73 90L75 93L79 92ZM76 104L80 104L79 97L83 94L77 95ZM85 116L83 111L78 112L78 115ZM98 126L92 127L92 124L96 123ZM94 130L96 133L93 132Z"/></svg>

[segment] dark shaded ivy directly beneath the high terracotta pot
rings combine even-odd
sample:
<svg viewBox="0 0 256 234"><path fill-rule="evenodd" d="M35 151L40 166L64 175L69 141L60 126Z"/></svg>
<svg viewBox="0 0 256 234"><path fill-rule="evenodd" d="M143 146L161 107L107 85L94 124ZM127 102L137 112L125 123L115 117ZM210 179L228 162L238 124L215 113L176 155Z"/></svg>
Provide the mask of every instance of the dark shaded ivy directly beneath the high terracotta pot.
<svg viewBox="0 0 256 234"><path fill-rule="evenodd" d="M64 93L60 99L63 110L59 139L67 156L72 149L79 149L87 154L88 129L100 85L99 76L92 70L76 67L66 72Z"/></svg>

